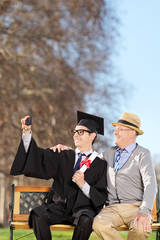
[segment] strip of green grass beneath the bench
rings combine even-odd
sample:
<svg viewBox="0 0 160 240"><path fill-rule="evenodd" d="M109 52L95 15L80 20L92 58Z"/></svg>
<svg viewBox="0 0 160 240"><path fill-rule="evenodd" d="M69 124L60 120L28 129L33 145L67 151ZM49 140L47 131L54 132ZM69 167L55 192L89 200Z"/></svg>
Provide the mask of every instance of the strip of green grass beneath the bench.
<svg viewBox="0 0 160 240"><path fill-rule="evenodd" d="M13 235L14 235L14 240L18 240L19 238L21 238L24 235L30 234L33 231L32 230L15 230L13 231ZM128 232L121 232L122 237L124 238L124 240L127 240L127 234ZM72 232L70 231L52 231L52 237L54 240L71 240L72 239ZM0 228L0 240L8 240L9 239L9 228ZM25 240L36 240L36 238L34 237L34 234L28 235L25 238L21 238L21 239L25 239ZM100 238L97 237L97 235L95 233L92 233L90 238L90 240L99 240ZM156 233L153 232L148 240L155 240L156 239Z"/></svg>

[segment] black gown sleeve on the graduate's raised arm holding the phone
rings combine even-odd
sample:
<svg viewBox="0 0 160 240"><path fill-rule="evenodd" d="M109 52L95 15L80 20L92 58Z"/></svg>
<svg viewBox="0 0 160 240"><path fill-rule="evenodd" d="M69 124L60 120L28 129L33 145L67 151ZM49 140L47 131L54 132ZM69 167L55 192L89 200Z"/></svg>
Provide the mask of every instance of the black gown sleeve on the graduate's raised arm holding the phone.
<svg viewBox="0 0 160 240"><path fill-rule="evenodd" d="M27 153L21 140L10 174L50 179L56 176L58 166L58 153L54 153L50 149L39 148L32 138Z"/></svg>

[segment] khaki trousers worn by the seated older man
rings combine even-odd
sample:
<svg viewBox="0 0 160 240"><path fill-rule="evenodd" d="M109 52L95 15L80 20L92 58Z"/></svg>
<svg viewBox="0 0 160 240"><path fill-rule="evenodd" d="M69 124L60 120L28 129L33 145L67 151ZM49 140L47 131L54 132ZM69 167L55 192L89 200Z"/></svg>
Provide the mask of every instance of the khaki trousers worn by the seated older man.
<svg viewBox="0 0 160 240"><path fill-rule="evenodd" d="M126 224L129 226L128 240L147 239L152 230L144 232L138 230L136 224L133 226L133 220L139 211L140 205L141 202L106 206L94 218L93 230L101 239L123 240L116 227Z"/></svg>

